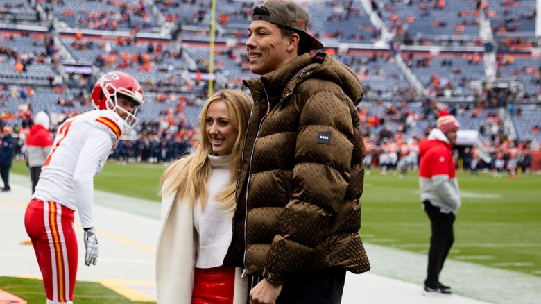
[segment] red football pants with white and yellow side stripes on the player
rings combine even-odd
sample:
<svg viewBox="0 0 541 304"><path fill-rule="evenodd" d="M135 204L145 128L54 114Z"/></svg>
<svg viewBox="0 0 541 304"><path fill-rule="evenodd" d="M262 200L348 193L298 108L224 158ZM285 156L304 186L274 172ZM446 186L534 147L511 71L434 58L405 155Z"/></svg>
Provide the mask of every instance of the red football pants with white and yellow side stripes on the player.
<svg viewBox="0 0 541 304"><path fill-rule="evenodd" d="M42 271L47 299L71 303L78 258L74 210L53 201L32 199L24 214L24 226Z"/></svg>

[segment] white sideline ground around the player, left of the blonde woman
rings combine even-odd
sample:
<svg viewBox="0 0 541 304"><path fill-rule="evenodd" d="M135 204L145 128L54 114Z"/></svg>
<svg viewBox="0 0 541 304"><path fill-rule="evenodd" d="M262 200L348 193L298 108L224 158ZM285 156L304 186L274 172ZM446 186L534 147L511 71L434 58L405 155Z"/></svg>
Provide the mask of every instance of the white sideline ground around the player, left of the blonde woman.
<svg viewBox="0 0 541 304"><path fill-rule="evenodd" d="M26 176L10 174L12 191L0 194L0 276L41 279L35 253L24 228L24 212L31 198ZM115 198L118 199L118 198ZM132 301L155 302L155 238L159 220L104 207L109 197L94 205L100 242L98 264L83 264L82 229L78 235L78 281L98 282ZM126 201L126 198L123 199ZM158 205L154 203L153 205Z"/></svg>

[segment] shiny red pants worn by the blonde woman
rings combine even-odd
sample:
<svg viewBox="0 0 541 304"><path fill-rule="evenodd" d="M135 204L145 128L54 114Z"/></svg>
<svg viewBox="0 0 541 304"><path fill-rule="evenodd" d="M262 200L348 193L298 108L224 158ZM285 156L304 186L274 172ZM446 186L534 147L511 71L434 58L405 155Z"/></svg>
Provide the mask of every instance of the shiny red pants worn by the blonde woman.
<svg viewBox="0 0 541 304"><path fill-rule="evenodd" d="M234 267L196 268L191 304L232 304Z"/></svg>

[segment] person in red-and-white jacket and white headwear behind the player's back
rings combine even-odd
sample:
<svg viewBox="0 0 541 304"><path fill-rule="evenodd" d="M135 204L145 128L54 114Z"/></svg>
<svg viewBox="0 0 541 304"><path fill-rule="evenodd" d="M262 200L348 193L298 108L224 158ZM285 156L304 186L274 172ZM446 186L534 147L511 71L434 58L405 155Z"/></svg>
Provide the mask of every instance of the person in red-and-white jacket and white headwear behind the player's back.
<svg viewBox="0 0 541 304"><path fill-rule="evenodd" d="M40 179L45 159L53 146L53 137L49 133L49 126L51 126L49 115L45 112L37 112L33 121L34 124L26 137L26 160L30 168L32 194L35 192L37 180Z"/></svg>

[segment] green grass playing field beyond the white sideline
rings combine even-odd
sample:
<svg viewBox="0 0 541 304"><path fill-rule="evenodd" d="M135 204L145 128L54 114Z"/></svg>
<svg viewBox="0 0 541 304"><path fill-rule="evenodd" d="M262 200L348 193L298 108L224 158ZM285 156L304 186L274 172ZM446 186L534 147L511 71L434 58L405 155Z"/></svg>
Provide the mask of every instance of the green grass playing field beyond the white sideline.
<svg viewBox="0 0 541 304"><path fill-rule="evenodd" d="M94 180L96 189L160 201L162 164L109 162ZM26 174L15 162L13 173ZM455 222L450 259L541 276L541 175L517 180L490 173L458 172L462 207ZM363 242L426 254L429 220L421 209L416 172L406 178L366 175L361 197Z"/></svg>

